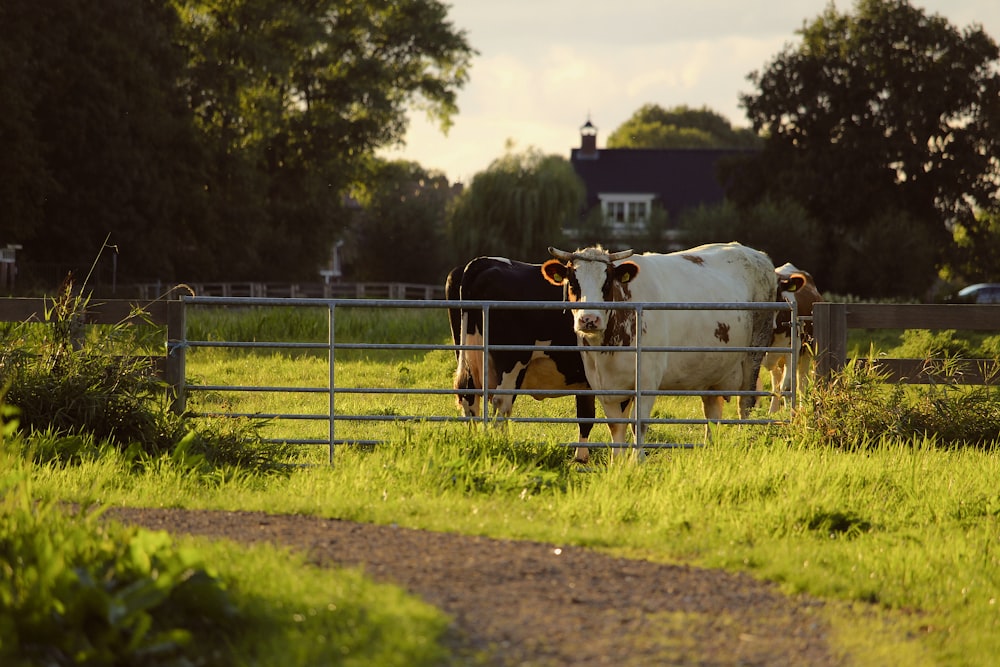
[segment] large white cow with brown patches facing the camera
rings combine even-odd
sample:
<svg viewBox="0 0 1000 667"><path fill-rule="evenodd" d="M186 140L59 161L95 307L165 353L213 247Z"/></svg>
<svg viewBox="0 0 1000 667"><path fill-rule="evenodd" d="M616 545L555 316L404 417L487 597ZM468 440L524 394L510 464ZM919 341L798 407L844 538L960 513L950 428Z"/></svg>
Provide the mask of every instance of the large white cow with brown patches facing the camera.
<svg viewBox="0 0 1000 667"><path fill-rule="evenodd" d="M773 303L774 264L768 256L739 243L709 244L670 253L632 255L631 250L608 253L600 246L566 252L549 248L555 257L542 265L545 277L563 286L572 302L574 329L582 345L626 346L634 340L633 310L600 309L596 302L635 303ZM644 311L643 347L713 347L718 352L644 352L643 390L752 391L763 352L727 352L733 347L767 347L773 335L769 310ZM584 368L594 389L622 390L601 396L610 419L629 415L634 402L634 352L584 352ZM649 418L655 396L643 396L640 417ZM702 396L705 418L722 418L723 397ZM740 417L746 417L754 396L742 396ZM624 422L609 423L615 443L626 442ZM642 439L643 432L638 434ZM710 437L706 426L706 438ZM641 452L640 452L641 454Z"/></svg>

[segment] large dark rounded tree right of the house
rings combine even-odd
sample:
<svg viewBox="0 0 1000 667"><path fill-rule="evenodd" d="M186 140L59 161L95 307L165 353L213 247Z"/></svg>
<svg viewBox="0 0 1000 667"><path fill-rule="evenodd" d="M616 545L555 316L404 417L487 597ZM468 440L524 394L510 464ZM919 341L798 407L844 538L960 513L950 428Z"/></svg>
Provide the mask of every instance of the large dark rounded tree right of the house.
<svg viewBox="0 0 1000 667"><path fill-rule="evenodd" d="M946 257L948 226L996 202L997 45L979 26L959 31L906 0L858 0L853 15L831 4L800 34L800 45L749 76L757 91L741 102L766 139L730 168L728 195L743 206L798 202L820 223L834 264L856 263L869 228L897 214L897 231L935 252L913 258L923 264L907 281L879 286L920 294ZM883 259L879 245L862 265ZM875 284L848 270L817 280L834 277L840 292L869 294Z"/></svg>

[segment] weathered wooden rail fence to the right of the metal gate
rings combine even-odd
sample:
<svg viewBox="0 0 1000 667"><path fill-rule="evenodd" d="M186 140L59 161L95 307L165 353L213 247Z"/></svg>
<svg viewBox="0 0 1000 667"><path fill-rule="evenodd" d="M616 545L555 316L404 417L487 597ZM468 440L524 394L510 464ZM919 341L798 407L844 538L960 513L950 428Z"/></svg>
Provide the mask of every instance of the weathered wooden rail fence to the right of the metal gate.
<svg viewBox="0 0 1000 667"><path fill-rule="evenodd" d="M813 306L816 335L816 372L829 377L847 363L849 329L956 329L1000 333L997 305L886 305L821 302ZM942 359L875 359L888 381L930 384L941 381ZM867 363L862 360L861 363ZM959 384L996 382L1000 370L993 359L963 359L949 362L949 377Z"/></svg>

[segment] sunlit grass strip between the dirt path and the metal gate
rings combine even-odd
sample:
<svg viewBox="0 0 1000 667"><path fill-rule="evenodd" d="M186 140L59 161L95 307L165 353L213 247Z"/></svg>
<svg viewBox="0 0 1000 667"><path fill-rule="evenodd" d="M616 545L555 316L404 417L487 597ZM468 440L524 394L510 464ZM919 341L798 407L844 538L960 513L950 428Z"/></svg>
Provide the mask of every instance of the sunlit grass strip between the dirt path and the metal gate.
<svg viewBox="0 0 1000 667"><path fill-rule="evenodd" d="M1000 650L995 450L860 453L734 429L711 447L581 473L551 444L491 433L344 448L333 467L211 485L109 466L39 470L35 484L64 499L316 514L747 570L891 612L890 634L931 664L987 664ZM838 618L848 635L867 623Z"/></svg>

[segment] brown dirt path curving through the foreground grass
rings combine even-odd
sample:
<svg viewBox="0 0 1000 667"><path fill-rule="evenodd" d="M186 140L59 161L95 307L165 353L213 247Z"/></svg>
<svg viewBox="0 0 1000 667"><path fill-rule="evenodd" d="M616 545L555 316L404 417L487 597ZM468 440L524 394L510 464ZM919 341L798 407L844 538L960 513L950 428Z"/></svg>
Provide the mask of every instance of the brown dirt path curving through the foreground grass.
<svg viewBox="0 0 1000 667"><path fill-rule="evenodd" d="M174 534L270 542L361 566L443 609L456 655L484 665L825 665L821 602L747 575L576 547L258 512L116 508Z"/></svg>

